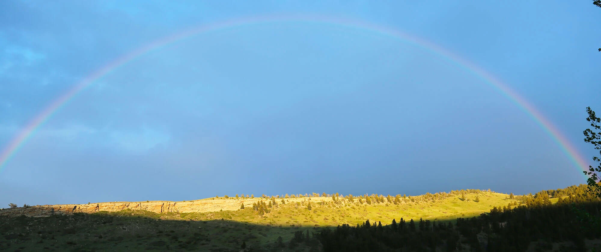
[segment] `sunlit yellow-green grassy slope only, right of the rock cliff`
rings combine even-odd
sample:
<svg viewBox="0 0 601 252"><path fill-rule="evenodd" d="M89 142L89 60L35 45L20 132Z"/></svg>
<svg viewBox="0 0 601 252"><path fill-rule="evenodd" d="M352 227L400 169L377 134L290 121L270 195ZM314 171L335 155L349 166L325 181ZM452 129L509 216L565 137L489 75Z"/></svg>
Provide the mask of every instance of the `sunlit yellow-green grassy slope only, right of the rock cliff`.
<svg viewBox="0 0 601 252"><path fill-rule="evenodd" d="M382 221L382 224L389 224L395 218L397 221L402 217L405 220L411 218L418 220L424 218L428 220L454 220L457 217L474 217L489 212L493 206L506 206L516 200L508 199L507 194L502 193L479 193L480 202L475 202L476 194L466 194L465 201L459 197L448 197L437 202L407 202L395 205L392 203L378 203L367 205L365 203L356 205L347 203L346 205L333 204L331 200L320 205L322 198L304 198L305 202L313 202L313 209L307 210L307 206L287 203L273 209L269 214L260 216L252 211L225 211L228 212L227 219L236 221L246 221L249 223L272 224L290 226L291 224L300 226L337 226L347 223L356 225L369 219L371 221ZM276 201L280 201L278 199ZM246 205L246 208L251 206ZM210 220L216 213L189 213L172 214L175 217L192 218L199 220Z"/></svg>

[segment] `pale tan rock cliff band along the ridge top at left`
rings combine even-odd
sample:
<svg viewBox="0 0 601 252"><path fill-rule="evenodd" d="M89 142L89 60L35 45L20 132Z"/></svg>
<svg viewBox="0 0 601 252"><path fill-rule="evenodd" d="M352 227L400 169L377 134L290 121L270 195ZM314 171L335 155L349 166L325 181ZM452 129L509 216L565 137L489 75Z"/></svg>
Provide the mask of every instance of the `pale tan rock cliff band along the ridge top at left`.
<svg viewBox="0 0 601 252"><path fill-rule="evenodd" d="M302 200L310 199L314 202L331 201L329 197L310 197L310 198L293 198L285 199L287 202L301 202ZM216 212L219 210L235 211L240 209L240 204L244 203L246 207L252 207L252 203L260 200L267 201L268 199L261 198L246 198L246 199L201 199L184 202L172 201L151 201L151 202L103 202L91 203L83 205L37 205L27 208L7 208L0 210L0 216L20 216L26 215L30 217L48 217L53 214L73 214L74 212L94 213L99 211L117 212L124 209L145 210L156 213L163 212ZM276 199L278 203L282 199Z"/></svg>

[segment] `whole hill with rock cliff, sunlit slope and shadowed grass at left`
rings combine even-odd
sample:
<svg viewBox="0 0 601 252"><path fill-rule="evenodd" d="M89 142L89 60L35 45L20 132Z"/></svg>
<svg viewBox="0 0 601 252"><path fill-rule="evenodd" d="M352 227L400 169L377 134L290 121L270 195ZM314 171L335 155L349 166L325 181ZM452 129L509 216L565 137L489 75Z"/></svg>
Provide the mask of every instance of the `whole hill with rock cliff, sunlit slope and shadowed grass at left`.
<svg viewBox="0 0 601 252"><path fill-rule="evenodd" d="M0 210L5 223L0 249L237 251L242 242L258 249L281 237L287 244L295 232L315 234L322 227L365 220L388 224L393 218L454 221L508 204L517 200L508 194L461 190L407 197L334 194L29 206Z"/></svg>

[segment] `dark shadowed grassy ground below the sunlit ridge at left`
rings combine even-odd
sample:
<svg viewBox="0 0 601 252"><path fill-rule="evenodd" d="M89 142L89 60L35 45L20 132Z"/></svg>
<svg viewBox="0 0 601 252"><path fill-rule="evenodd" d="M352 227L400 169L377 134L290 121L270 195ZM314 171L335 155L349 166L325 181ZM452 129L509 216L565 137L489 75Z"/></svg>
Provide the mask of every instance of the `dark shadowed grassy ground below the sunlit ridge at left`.
<svg viewBox="0 0 601 252"><path fill-rule="evenodd" d="M310 227L273 227L231 220L183 221L147 217L143 211L0 217L0 250L6 251L264 251L288 249L294 232ZM313 236L311 236L313 237ZM285 239L284 239L285 238ZM316 243L317 244L317 243ZM307 248L301 243L294 248Z"/></svg>

